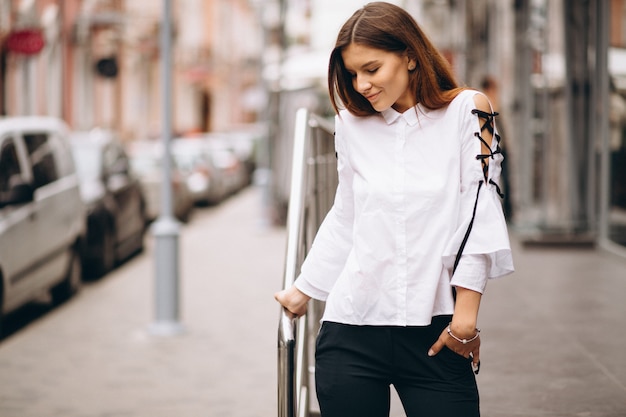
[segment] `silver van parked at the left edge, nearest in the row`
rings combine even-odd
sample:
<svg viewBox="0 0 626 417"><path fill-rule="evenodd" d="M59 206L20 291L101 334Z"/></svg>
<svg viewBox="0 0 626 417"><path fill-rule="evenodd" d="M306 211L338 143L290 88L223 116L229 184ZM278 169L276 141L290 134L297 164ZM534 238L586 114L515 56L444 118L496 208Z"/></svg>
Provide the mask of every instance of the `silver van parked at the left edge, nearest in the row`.
<svg viewBox="0 0 626 417"><path fill-rule="evenodd" d="M85 205L68 132L57 118L0 118L0 321L81 286Z"/></svg>

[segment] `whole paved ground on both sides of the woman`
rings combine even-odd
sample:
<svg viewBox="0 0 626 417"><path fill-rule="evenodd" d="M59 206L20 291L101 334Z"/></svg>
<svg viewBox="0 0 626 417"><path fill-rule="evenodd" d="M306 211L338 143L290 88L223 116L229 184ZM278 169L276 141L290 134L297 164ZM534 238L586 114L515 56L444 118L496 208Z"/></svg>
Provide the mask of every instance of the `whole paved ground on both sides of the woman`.
<svg viewBox="0 0 626 417"><path fill-rule="evenodd" d="M150 242L0 343L0 416L275 416L285 231L260 207L251 188L183 226L183 334L148 332ZM483 417L626 416L626 260L513 244L517 272L481 308Z"/></svg>

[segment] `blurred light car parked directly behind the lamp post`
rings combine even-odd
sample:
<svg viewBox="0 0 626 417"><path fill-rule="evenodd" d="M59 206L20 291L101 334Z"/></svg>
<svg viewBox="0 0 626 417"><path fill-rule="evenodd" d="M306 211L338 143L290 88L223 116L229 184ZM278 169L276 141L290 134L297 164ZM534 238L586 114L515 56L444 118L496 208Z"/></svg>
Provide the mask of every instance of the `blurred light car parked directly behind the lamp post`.
<svg viewBox="0 0 626 417"><path fill-rule="evenodd" d="M146 197L146 213L149 221L161 214L163 178L163 147L160 142L135 141L127 146L133 172L139 177ZM170 160L173 214L179 220L189 220L194 200L176 160Z"/></svg>

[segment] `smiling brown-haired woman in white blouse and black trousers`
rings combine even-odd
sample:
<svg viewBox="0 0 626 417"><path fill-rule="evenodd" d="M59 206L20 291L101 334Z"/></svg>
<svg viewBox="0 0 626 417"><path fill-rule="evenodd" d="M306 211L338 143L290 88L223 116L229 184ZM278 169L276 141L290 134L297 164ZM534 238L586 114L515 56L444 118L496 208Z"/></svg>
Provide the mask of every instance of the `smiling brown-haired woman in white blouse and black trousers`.
<svg viewBox="0 0 626 417"><path fill-rule="evenodd" d="M294 286L275 295L296 315L326 300L322 416L387 416L390 385L409 417L478 416L479 304L488 278L513 271L495 114L382 2L341 28L328 83L335 202Z"/></svg>

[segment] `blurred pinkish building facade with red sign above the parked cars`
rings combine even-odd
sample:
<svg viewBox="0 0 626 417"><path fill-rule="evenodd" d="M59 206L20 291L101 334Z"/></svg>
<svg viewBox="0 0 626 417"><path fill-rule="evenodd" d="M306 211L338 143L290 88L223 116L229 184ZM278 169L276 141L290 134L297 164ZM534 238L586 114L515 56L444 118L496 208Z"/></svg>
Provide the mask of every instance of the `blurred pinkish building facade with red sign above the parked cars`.
<svg viewBox="0 0 626 417"><path fill-rule="evenodd" d="M247 0L172 1L174 133L254 121L262 32ZM160 130L152 0L0 0L0 114L49 114L125 139ZM25 45L40 43L38 50ZM26 48L27 49L27 48Z"/></svg>

